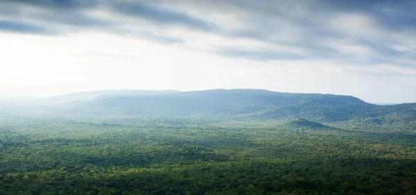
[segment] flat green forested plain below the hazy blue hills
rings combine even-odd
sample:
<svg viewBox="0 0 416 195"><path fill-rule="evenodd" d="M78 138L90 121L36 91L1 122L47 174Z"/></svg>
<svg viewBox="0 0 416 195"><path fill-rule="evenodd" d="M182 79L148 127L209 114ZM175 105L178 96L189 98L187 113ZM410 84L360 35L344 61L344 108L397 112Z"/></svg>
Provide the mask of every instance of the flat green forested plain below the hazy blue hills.
<svg viewBox="0 0 416 195"><path fill-rule="evenodd" d="M191 117L0 120L0 194L416 194L411 130Z"/></svg>

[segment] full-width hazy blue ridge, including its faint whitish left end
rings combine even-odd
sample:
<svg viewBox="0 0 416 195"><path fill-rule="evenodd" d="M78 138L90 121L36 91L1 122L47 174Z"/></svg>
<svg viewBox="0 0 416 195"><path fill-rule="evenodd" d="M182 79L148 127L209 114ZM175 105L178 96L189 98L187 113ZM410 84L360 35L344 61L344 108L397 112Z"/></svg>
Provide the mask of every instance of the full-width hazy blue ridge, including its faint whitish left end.
<svg viewBox="0 0 416 195"><path fill-rule="evenodd" d="M256 89L191 92L110 90L79 92L43 101L44 104L33 106L10 105L0 111L3 115L49 113L49 116L237 117L281 121L304 118L324 124L353 121L378 126L400 124L416 127L416 103L375 105L354 96L336 94Z"/></svg>

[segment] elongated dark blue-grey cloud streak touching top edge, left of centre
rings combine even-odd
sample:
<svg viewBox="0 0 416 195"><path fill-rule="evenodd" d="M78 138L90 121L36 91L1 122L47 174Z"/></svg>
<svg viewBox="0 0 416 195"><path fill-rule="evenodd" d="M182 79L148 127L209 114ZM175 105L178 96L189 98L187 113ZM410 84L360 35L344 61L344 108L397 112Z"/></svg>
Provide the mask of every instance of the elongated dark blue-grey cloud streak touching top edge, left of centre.
<svg viewBox="0 0 416 195"><path fill-rule="evenodd" d="M160 24L179 24L204 31L212 31L216 28L215 24L185 12L168 8L157 8L146 3L113 1L110 3L110 9L119 14L140 17Z"/></svg>

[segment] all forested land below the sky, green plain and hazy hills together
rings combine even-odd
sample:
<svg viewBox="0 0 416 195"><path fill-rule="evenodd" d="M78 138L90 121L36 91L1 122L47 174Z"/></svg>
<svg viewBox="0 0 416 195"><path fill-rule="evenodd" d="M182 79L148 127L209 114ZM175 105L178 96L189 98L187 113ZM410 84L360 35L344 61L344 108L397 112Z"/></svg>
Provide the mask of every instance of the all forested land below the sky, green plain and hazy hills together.
<svg viewBox="0 0 416 195"><path fill-rule="evenodd" d="M265 90L8 103L0 194L416 194L416 105Z"/></svg>

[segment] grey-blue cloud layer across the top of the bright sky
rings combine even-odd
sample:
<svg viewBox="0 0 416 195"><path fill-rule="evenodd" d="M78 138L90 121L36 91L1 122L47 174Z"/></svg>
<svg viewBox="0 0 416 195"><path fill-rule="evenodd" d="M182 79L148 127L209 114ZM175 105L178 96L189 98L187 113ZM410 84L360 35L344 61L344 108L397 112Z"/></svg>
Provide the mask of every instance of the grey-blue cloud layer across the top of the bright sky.
<svg viewBox="0 0 416 195"><path fill-rule="evenodd" d="M322 59L409 67L416 56L415 1L6 0L1 4L2 10L11 10L0 13L2 31L64 34L94 29L138 35L145 31L144 38L166 43L193 42L183 33L191 31L200 33L200 39L209 34L231 43L254 40L244 48L211 42L207 52L259 61Z"/></svg>

